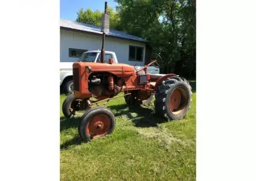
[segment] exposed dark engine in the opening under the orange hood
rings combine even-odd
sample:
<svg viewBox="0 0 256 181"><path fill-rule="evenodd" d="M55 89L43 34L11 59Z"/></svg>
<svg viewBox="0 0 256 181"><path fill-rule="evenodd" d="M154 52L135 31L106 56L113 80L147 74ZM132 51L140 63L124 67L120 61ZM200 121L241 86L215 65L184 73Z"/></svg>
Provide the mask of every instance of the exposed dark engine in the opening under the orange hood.
<svg viewBox="0 0 256 181"><path fill-rule="evenodd" d="M96 96L115 96L122 91L123 81L109 72L94 72L88 78L91 94Z"/></svg>

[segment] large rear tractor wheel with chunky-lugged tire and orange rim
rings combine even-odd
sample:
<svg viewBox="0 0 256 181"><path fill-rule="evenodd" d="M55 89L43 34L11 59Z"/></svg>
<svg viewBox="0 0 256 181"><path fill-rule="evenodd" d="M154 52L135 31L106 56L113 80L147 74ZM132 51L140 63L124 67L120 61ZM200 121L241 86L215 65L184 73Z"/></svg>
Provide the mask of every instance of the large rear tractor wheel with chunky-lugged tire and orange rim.
<svg viewBox="0 0 256 181"><path fill-rule="evenodd" d="M160 117L172 120L186 116L190 109L191 86L182 77L171 77L156 89L155 111Z"/></svg>

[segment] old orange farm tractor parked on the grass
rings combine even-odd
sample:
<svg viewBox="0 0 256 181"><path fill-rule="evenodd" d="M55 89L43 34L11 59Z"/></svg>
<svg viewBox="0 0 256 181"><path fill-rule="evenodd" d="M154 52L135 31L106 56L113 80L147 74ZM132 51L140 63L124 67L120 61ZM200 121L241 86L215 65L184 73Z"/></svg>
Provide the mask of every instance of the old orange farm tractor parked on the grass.
<svg viewBox="0 0 256 181"><path fill-rule="evenodd" d="M110 134L115 127L114 114L104 106L115 98L124 96L125 102L136 106L151 101L155 95L155 112L172 120L186 116L191 102L189 82L173 73L149 75L147 67L140 70L123 63L75 62L73 64L74 94L62 105L65 117L76 111L85 111L78 127L84 141ZM119 93L124 92L122 95ZM92 100L93 97L93 100ZM90 100L91 99L91 100ZM103 106L98 104L104 102ZM94 105L97 105L93 108Z"/></svg>

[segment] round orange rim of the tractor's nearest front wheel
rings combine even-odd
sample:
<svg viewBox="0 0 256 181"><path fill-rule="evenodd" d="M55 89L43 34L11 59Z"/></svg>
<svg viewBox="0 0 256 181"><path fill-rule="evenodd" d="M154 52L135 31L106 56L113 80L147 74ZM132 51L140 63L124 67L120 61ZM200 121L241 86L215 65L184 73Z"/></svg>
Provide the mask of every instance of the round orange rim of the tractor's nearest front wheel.
<svg viewBox="0 0 256 181"><path fill-rule="evenodd" d="M87 124L86 132L91 138L98 138L108 133L110 128L110 118L107 114L97 114L93 116Z"/></svg>

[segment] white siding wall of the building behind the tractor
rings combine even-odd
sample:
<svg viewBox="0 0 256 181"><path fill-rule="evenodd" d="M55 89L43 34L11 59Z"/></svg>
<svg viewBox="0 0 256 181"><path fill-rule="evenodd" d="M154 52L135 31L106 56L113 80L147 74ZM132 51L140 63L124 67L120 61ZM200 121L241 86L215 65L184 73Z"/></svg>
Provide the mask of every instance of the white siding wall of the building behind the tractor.
<svg viewBox="0 0 256 181"><path fill-rule="evenodd" d="M143 62L129 61L129 45L143 47ZM75 62L78 58L69 57L69 48L101 50L102 35L60 30L60 61ZM115 52L119 63L144 65L146 43L135 40L105 37L105 51Z"/></svg>

